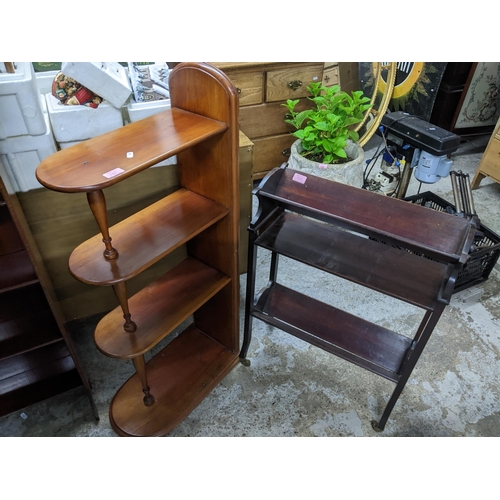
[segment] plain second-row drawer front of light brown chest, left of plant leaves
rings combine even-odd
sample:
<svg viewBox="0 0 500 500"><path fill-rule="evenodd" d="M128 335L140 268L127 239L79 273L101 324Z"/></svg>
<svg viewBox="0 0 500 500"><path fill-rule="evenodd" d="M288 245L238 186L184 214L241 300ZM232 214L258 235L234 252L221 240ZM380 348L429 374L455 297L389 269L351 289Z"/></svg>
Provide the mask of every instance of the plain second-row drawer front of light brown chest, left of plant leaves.
<svg viewBox="0 0 500 500"><path fill-rule="evenodd" d="M311 101L307 98L302 98L295 107L295 110L303 111L310 106ZM293 132L295 128L285 123L287 113L287 108L280 102L246 106L240 109L240 129L252 140L258 137Z"/></svg>

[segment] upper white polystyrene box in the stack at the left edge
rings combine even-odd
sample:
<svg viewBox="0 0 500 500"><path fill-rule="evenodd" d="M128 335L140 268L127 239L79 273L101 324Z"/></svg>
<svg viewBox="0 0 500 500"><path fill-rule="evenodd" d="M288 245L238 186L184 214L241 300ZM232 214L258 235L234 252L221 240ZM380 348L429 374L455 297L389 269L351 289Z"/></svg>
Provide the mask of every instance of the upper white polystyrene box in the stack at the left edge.
<svg viewBox="0 0 500 500"><path fill-rule="evenodd" d="M0 73L0 140L47 132L33 66L15 64L15 73Z"/></svg>

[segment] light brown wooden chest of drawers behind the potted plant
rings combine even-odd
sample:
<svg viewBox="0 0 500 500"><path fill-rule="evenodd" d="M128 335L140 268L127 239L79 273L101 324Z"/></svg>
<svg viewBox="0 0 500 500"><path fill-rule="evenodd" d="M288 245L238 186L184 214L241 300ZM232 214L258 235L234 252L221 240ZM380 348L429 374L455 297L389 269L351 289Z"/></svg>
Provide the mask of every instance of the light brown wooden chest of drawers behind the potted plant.
<svg viewBox="0 0 500 500"><path fill-rule="evenodd" d="M284 122L287 99L300 99L296 109L310 106L311 82L339 84L338 63L213 63L226 73L239 94L240 129L254 144L252 178L261 179L288 160L295 137Z"/></svg>

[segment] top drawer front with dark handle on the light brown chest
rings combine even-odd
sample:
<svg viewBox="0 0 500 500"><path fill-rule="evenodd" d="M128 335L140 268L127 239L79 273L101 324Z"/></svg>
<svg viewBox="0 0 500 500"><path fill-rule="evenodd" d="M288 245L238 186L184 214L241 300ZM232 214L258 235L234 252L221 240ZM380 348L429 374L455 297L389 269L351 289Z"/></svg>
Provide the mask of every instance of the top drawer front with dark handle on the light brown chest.
<svg viewBox="0 0 500 500"><path fill-rule="evenodd" d="M323 80L323 63L312 64L305 68L278 69L267 72L266 102L299 99L306 97L309 92L306 87L311 82ZM295 90L292 88L300 83Z"/></svg>

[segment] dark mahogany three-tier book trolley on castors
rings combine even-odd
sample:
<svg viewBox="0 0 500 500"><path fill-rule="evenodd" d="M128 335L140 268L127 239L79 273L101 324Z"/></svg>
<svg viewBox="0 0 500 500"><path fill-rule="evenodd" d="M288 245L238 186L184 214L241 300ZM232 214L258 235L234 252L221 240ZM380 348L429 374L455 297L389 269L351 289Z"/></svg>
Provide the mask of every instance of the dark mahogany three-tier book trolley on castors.
<svg viewBox="0 0 500 500"><path fill-rule="evenodd" d="M375 430L383 430L468 259L472 221L287 167L254 191L249 228L244 364L253 318L396 384ZM305 217L304 217L305 216ZM255 295L258 249L271 252L269 282ZM401 334L319 302L282 283L280 255L417 306L416 333ZM339 293L342 293L339 287Z"/></svg>

